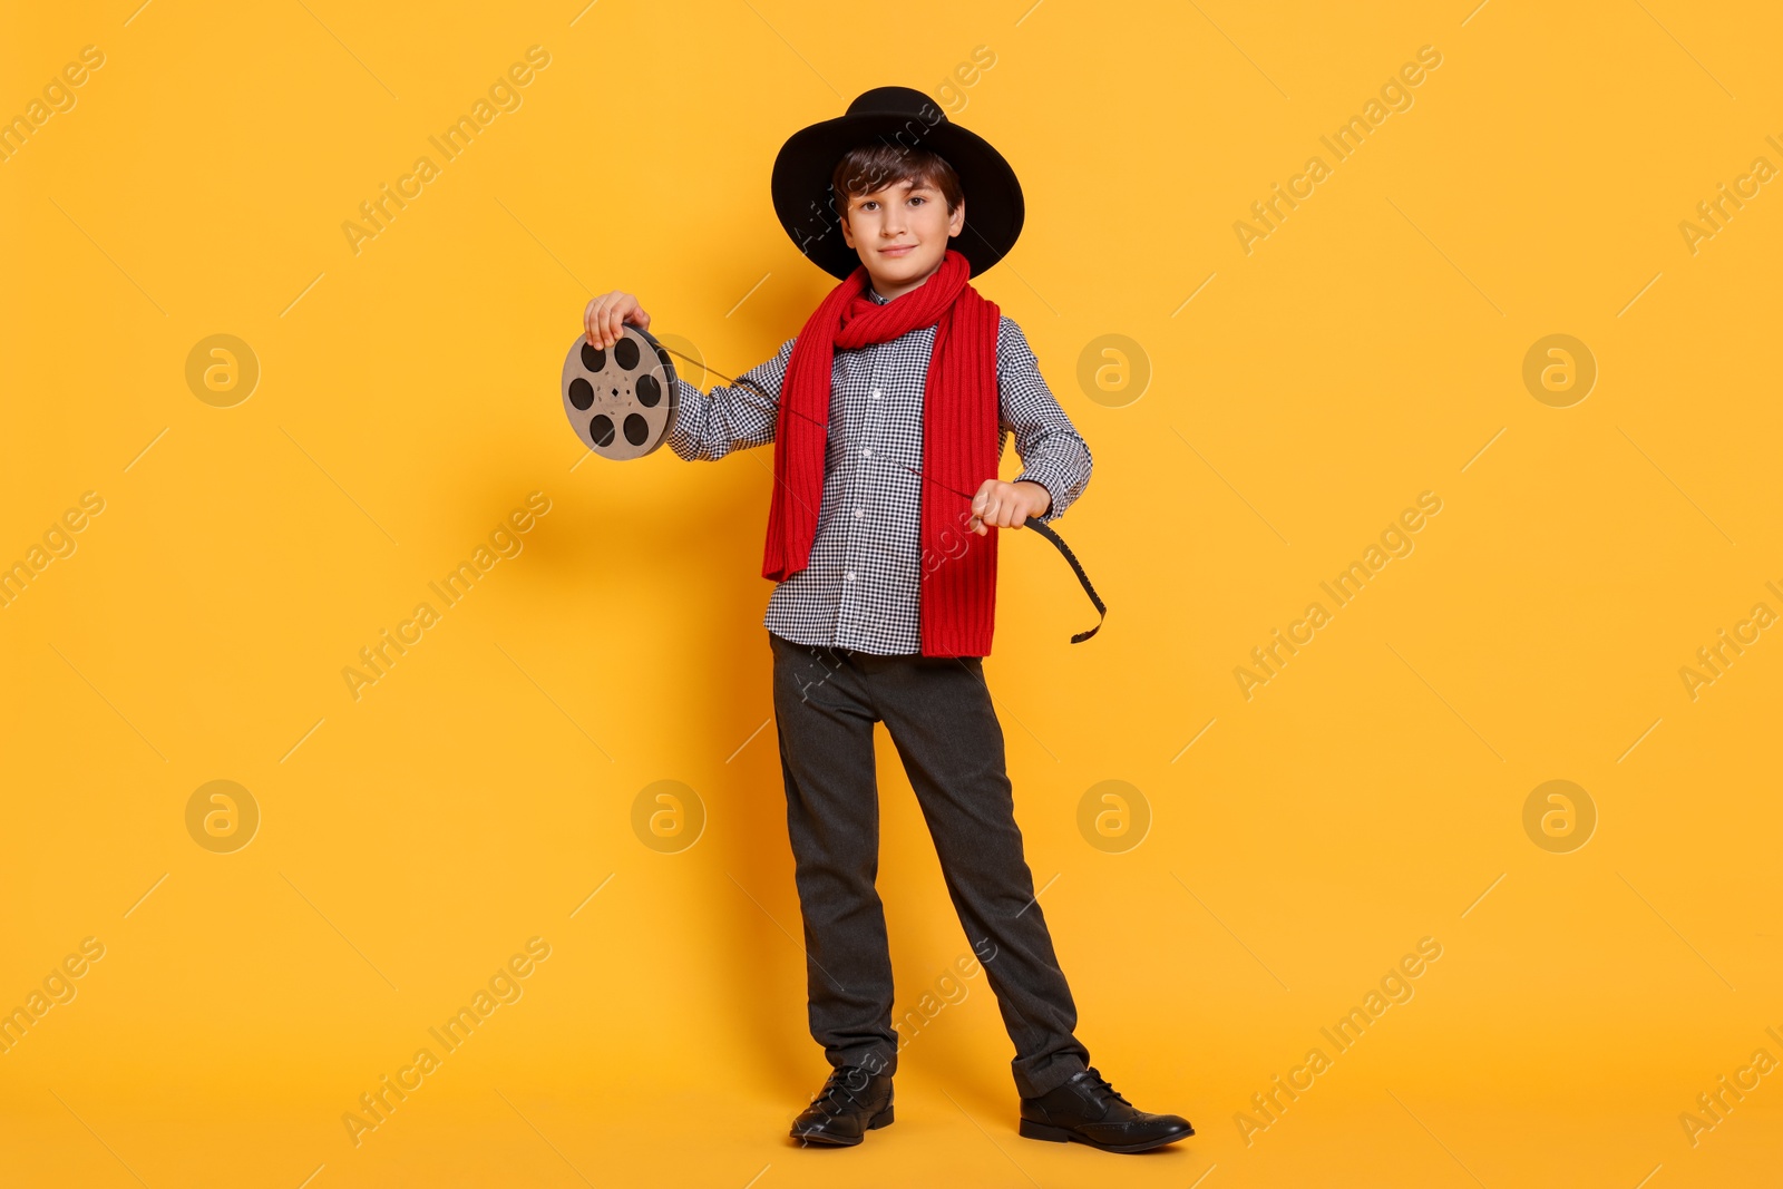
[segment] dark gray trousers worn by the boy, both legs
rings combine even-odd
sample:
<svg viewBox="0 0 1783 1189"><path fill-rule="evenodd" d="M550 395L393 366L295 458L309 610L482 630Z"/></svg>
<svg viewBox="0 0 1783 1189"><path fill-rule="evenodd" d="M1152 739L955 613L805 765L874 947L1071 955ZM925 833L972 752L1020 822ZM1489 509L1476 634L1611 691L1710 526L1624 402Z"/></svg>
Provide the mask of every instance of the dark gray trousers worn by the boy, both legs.
<svg viewBox="0 0 1783 1189"><path fill-rule="evenodd" d="M786 779L811 1036L831 1066L897 1070L892 952L879 902L874 722L884 722L922 806L947 893L1015 1041L1016 1091L1079 1070L1077 1007L1022 856L1002 726L979 658L872 656L768 633Z"/></svg>

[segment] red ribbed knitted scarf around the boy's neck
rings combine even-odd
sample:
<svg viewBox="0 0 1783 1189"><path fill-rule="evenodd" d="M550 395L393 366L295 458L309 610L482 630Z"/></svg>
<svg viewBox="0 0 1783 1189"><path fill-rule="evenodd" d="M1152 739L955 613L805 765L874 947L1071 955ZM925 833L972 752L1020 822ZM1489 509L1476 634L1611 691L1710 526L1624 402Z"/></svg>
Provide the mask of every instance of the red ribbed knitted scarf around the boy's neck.
<svg viewBox="0 0 1783 1189"><path fill-rule="evenodd" d="M793 342L774 435L774 503L761 576L785 581L808 565L817 537L836 348L890 342L934 326L922 401L924 656L990 656L997 619L997 529L979 537L965 526L972 496L984 480L997 478L1002 314L966 283L970 275L966 258L949 248L929 280L879 305L867 296L867 269L856 267L824 298ZM879 462L872 458L868 465Z"/></svg>

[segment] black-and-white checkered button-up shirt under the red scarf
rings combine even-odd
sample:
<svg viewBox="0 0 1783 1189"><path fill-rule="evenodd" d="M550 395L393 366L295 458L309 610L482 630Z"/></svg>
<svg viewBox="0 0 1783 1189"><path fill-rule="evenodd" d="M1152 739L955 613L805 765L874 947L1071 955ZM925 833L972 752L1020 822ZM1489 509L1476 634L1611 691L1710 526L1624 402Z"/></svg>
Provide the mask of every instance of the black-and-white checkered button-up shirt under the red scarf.
<svg viewBox="0 0 1783 1189"><path fill-rule="evenodd" d="M886 303L872 289L868 296ZM772 401L745 385L701 392L678 374L679 405L669 447L688 462L710 462L772 442L793 342L788 339L772 360L744 373L744 380L772 392ZM806 569L768 597L761 619L768 631L795 644L879 656L922 651L918 472L933 348L934 326L922 326L890 342L836 349L817 537ZM1002 458L1013 431L1023 463L1015 481L1045 487L1052 503L1041 521L1056 521L1089 485L1089 447L1041 380L1027 337L1009 317L997 328L997 456Z"/></svg>

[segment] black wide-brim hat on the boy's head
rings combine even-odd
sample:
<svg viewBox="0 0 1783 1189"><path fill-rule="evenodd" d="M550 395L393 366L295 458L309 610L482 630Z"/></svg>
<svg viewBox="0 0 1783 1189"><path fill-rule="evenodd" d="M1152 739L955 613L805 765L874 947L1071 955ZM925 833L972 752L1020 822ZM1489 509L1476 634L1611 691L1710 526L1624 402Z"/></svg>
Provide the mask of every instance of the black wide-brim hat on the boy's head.
<svg viewBox="0 0 1783 1189"><path fill-rule="evenodd" d="M829 178L843 153L872 141L924 148L954 168L966 196L966 223L947 246L966 257L974 276L1015 248L1025 207L1004 155L952 123L922 91L874 87L836 119L792 134L774 159L774 212L806 258L840 278L859 267L859 253L842 239L843 196L831 191Z"/></svg>

